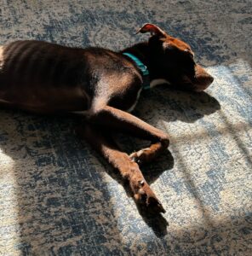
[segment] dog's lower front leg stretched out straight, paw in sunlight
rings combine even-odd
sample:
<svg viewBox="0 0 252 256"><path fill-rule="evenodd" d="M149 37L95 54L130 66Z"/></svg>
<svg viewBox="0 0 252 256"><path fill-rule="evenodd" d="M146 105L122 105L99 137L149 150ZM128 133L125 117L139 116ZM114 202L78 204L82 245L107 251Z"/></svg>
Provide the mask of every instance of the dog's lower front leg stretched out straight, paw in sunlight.
<svg viewBox="0 0 252 256"><path fill-rule="evenodd" d="M124 179L129 181L137 203L144 204L151 212L165 212L157 196L146 183L138 164L130 160L128 154L119 150L108 131L100 130L94 125L84 124L77 129L77 133L102 154Z"/></svg>

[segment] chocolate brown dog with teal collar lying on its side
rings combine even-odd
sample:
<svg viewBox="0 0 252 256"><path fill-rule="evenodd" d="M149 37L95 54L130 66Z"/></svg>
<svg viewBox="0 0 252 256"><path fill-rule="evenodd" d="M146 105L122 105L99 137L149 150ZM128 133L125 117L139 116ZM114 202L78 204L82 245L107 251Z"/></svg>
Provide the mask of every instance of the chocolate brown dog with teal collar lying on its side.
<svg viewBox="0 0 252 256"><path fill-rule="evenodd" d="M78 133L129 180L135 201L164 212L138 164L163 152L169 137L129 112L143 87L165 82L200 91L213 78L195 63L192 49L180 39L152 24L139 32L152 36L120 52L38 41L0 47L0 102L35 113L81 111L85 118ZM113 142L114 131L149 140L151 145L128 155Z"/></svg>

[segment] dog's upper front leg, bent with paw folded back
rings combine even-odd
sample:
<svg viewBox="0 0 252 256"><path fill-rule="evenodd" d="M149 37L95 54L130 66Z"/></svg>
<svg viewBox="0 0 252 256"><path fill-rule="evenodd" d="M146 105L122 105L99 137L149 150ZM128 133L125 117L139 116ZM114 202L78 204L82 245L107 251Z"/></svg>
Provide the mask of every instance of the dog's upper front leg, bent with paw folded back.
<svg viewBox="0 0 252 256"><path fill-rule="evenodd" d="M149 148L130 154L130 159L138 163L153 160L169 146L169 137L163 131L117 108L109 106L94 108L89 113L89 121L96 125L102 125L106 129L125 132L134 137L151 141L152 145Z"/></svg>

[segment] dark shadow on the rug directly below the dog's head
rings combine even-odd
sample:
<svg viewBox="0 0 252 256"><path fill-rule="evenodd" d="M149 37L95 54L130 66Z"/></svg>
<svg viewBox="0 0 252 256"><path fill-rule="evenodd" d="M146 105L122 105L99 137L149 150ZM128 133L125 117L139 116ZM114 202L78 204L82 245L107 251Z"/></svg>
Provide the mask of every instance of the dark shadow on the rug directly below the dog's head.
<svg viewBox="0 0 252 256"><path fill-rule="evenodd" d="M168 84L162 84L154 90L143 91L135 114L152 125L158 119L193 123L219 109L220 103L207 92L173 90Z"/></svg>

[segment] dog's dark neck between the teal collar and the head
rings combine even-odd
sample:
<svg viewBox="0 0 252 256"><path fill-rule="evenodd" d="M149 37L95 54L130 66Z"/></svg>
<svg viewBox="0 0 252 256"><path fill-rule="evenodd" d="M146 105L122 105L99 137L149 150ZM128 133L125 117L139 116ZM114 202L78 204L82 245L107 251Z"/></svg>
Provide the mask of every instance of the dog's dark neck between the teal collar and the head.
<svg viewBox="0 0 252 256"><path fill-rule="evenodd" d="M151 49L149 48L148 42L134 44L133 46L120 51L120 53L125 52L135 55L144 65L146 65L150 73L150 88L155 87L158 84L169 84L169 81L157 77L153 72L150 55Z"/></svg>

